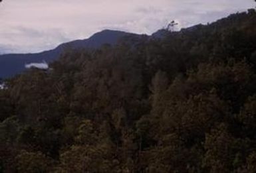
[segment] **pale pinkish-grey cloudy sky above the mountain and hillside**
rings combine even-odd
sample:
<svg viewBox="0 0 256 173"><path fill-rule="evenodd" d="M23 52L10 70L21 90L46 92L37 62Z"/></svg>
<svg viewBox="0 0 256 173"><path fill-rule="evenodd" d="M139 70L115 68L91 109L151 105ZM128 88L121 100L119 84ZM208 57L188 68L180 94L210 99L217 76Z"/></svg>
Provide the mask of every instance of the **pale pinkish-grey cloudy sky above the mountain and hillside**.
<svg viewBox="0 0 256 173"><path fill-rule="evenodd" d="M0 54L41 52L103 29L152 34L175 20L179 30L252 7L253 0L3 0Z"/></svg>

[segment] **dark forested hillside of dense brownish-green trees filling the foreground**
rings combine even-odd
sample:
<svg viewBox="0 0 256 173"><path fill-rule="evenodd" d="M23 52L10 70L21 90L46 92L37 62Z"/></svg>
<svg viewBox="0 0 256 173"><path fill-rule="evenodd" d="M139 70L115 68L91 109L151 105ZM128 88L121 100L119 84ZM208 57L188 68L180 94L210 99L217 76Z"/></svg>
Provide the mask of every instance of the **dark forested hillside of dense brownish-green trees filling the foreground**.
<svg viewBox="0 0 256 173"><path fill-rule="evenodd" d="M256 172L256 12L68 49L0 90L0 172Z"/></svg>

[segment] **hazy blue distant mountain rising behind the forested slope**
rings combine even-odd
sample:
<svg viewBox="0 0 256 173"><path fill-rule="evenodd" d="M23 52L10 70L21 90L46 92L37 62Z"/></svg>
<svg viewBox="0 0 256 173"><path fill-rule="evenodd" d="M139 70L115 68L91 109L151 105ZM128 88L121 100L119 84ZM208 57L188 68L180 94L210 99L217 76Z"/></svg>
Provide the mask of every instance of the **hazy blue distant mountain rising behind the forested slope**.
<svg viewBox="0 0 256 173"><path fill-rule="evenodd" d="M53 50L35 54L4 54L0 55L0 78L9 78L25 70L25 64L53 62L66 47L70 48L99 48L103 44L116 44L124 36L138 36L117 30L102 30L88 39L74 40L57 46Z"/></svg>

